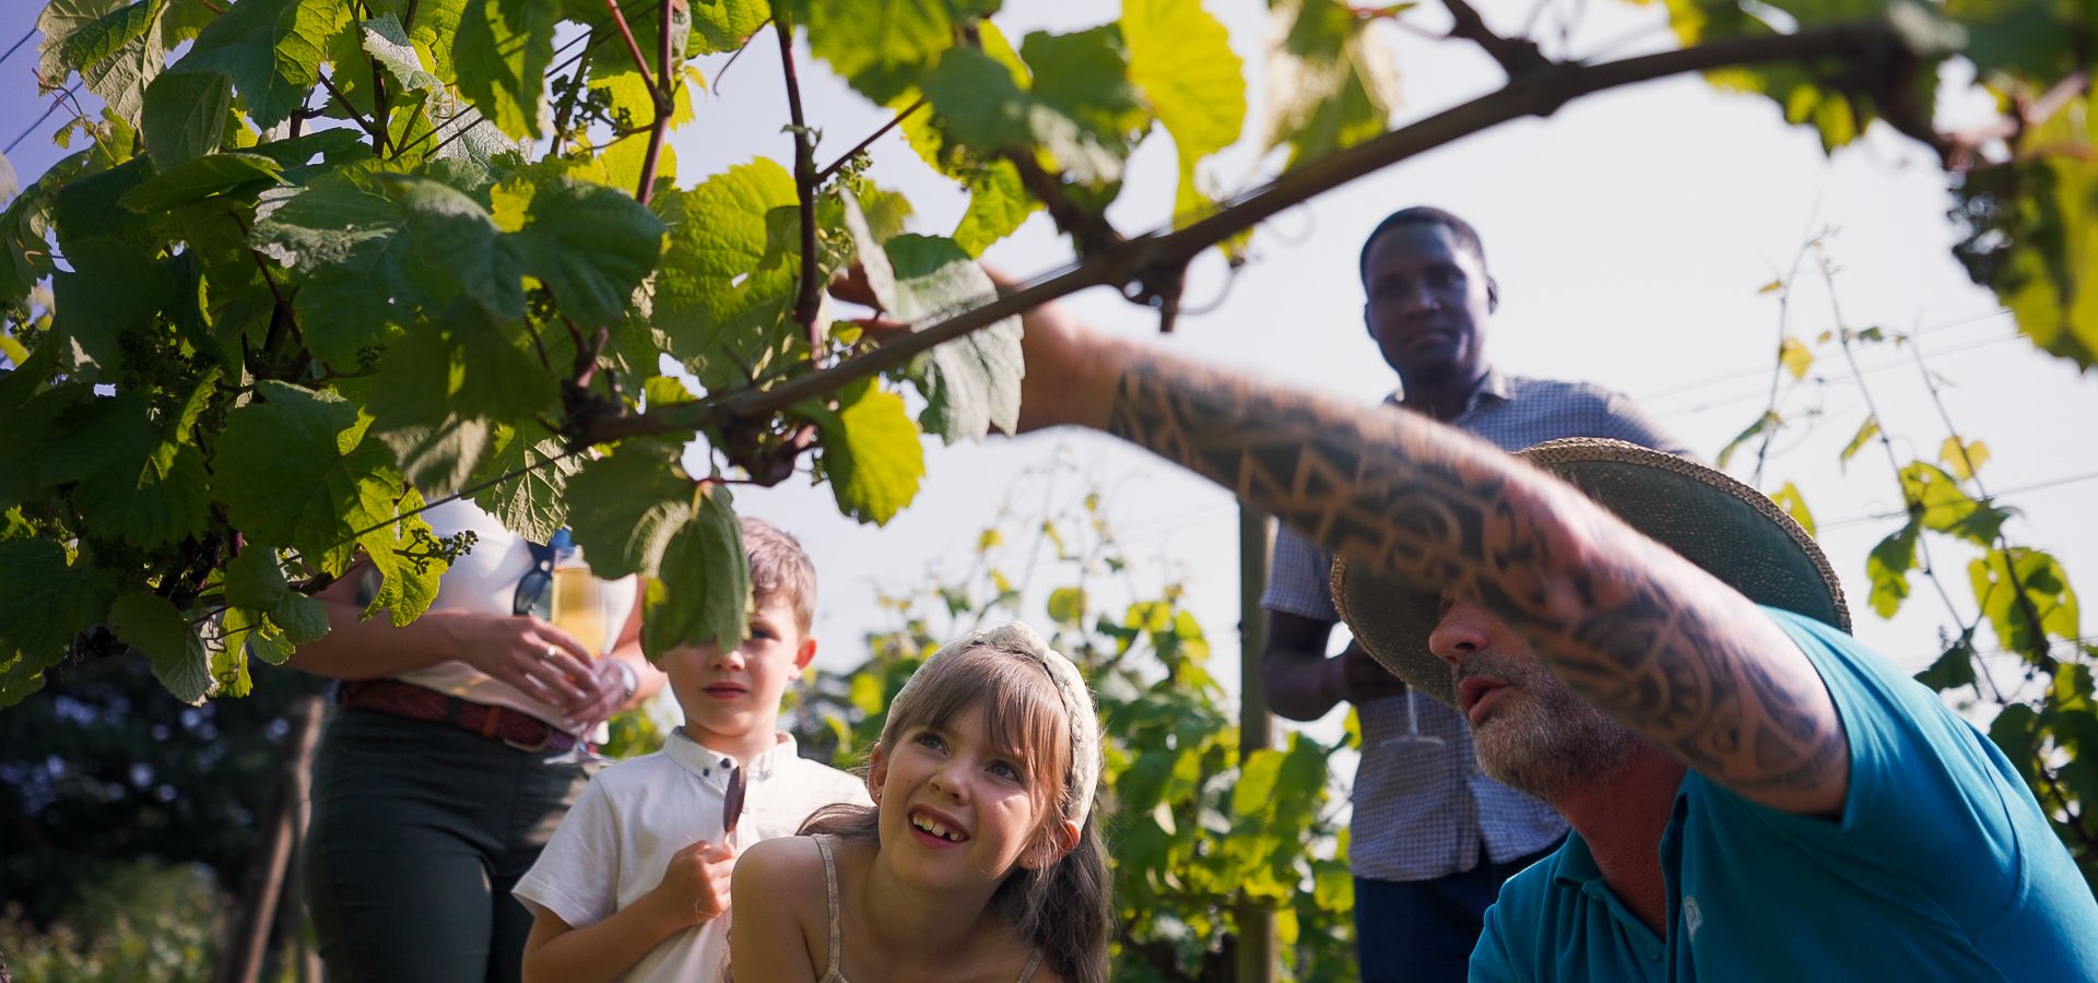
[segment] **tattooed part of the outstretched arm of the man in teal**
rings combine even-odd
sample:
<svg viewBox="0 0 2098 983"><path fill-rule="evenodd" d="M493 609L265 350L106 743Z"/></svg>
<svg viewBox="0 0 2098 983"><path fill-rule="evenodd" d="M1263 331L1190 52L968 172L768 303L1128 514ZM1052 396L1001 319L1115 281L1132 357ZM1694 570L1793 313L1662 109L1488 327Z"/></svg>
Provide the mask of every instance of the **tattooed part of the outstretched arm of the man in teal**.
<svg viewBox="0 0 2098 983"><path fill-rule="evenodd" d="M1160 356L1122 373L1108 432L1351 564L1485 606L1580 696L1708 778L1781 809L1840 803L1842 727L1790 637L1492 444Z"/></svg>

